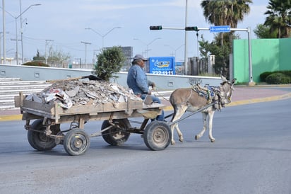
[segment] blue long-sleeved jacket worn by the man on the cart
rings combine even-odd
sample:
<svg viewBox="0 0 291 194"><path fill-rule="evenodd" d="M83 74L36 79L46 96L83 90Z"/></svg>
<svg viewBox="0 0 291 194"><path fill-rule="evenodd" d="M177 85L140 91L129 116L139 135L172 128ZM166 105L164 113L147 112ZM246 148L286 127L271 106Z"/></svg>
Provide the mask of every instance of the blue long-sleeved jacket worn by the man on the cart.
<svg viewBox="0 0 291 194"><path fill-rule="evenodd" d="M133 90L134 94L148 93L148 86L152 83L152 81L148 81L145 72L138 64L131 66L127 75L127 85Z"/></svg>

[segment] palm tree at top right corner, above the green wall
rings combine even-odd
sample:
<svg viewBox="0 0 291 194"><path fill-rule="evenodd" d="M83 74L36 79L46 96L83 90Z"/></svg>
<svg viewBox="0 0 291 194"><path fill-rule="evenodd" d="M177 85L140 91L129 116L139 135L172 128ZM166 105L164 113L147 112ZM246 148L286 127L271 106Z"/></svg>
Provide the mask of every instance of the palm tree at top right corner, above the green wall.
<svg viewBox="0 0 291 194"><path fill-rule="evenodd" d="M277 38L288 38L291 35L291 0L270 0L266 11L264 25L270 26L270 33Z"/></svg>

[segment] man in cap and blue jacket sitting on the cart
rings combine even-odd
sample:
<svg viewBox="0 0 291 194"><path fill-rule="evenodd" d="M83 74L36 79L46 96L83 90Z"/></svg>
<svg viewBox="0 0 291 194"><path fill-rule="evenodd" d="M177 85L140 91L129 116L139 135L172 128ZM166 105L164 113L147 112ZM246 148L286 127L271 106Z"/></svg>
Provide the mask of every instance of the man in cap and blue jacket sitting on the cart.
<svg viewBox="0 0 291 194"><path fill-rule="evenodd" d="M160 98L151 96L151 91L148 88L148 86L155 88L155 83L148 80L143 70L146 61L148 61L148 59L143 57L143 55L136 55L133 57L133 61L131 62L132 65L127 75L127 85L133 90L133 93L141 97L141 99L144 100L145 97L149 95L153 99L153 102L160 103ZM157 116L156 120L165 120L164 110L162 110L161 115Z"/></svg>

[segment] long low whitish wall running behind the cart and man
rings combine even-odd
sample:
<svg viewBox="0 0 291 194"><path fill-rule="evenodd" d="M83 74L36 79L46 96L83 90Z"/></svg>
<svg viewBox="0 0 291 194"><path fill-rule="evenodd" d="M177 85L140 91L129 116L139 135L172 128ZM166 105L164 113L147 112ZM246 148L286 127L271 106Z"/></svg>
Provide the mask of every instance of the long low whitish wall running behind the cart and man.
<svg viewBox="0 0 291 194"><path fill-rule="evenodd" d="M92 70L90 69L66 69L54 67L29 67L12 64L0 64L0 77L20 78L23 81L30 80L57 80L69 79L81 76L88 76ZM117 79L112 79L112 82L127 87L126 76L127 72L117 74ZM155 82L155 85L160 90L173 90L178 88L187 88L189 83L201 83L201 85L209 84L210 86L219 86L220 77L208 76L182 76L182 75L157 75L148 74L148 79Z"/></svg>

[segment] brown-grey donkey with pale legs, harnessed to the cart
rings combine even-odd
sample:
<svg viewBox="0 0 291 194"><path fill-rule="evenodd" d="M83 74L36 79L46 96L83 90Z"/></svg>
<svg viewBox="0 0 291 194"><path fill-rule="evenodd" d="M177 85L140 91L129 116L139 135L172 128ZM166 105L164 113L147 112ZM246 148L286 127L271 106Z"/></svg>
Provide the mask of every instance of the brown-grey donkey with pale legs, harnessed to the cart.
<svg viewBox="0 0 291 194"><path fill-rule="evenodd" d="M213 115L215 110L220 110L222 107L225 107L225 104L231 102L232 91L234 90L233 85L236 80L233 79L230 82L227 81L224 76L221 76L221 79L222 83L217 88L207 89L199 85L195 85L195 87L189 89L176 89L173 91L170 96L170 103L174 108L171 122L179 120L179 118L181 118L186 111L195 112L200 108L206 107L210 103L214 103L201 111L203 115L203 129L195 136L195 139L197 140L202 137L208 127L208 137L210 142L215 142L215 138L212 135ZM174 128L177 130L177 134L179 135L179 141L183 142L184 137L182 132L179 130L178 122L176 122L171 125L171 144L175 144Z"/></svg>

